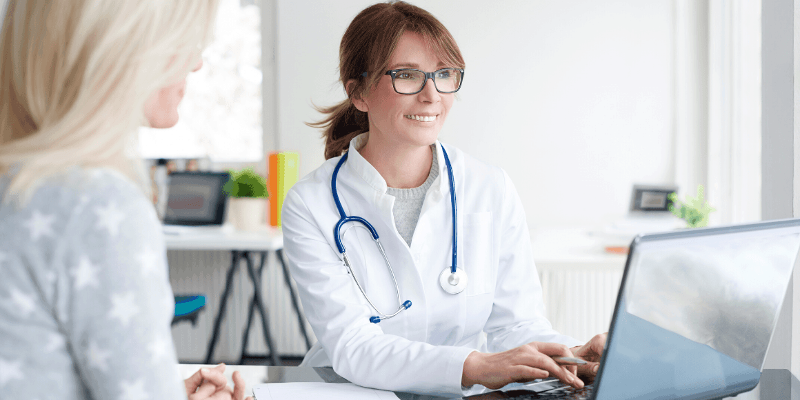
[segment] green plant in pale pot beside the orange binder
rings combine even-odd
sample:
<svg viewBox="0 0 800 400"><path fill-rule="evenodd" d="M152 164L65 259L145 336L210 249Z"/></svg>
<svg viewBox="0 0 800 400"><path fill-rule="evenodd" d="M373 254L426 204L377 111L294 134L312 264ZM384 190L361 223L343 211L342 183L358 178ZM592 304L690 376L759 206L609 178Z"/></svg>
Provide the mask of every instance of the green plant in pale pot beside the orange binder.
<svg viewBox="0 0 800 400"><path fill-rule="evenodd" d="M266 225L266 179L252 168L230 170L230 180L222 190L231 197L230 213L234 226L239 230L258 230Z"/></svg>

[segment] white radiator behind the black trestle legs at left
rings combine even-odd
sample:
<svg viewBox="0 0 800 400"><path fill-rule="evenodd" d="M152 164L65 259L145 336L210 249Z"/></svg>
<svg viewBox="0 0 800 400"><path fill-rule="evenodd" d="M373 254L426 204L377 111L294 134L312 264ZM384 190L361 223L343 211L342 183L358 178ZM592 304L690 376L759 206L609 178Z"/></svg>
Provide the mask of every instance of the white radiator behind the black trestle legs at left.
<svg viewBox="0 0 800 400"><path fill-rule="evenodd" d="M254 257L256 268L259 258L260 256ZM176 295L206 296L206 308L202 310L196 326L192 326L190 322L181 322L172 328L178 360L184 363L203 362L214 329L214 318L219 310L222 290L225 288L226 274L231 262L230 251L170 250L167 252L167 260L170 266L170 283ZM274 253L270 253L264 266L262 290L278 354L282 357L302 357L306 354L306 342L300 333L283 270ZM250 297L253 295L253 285L243 260L234 275L231 292L214 349L213 362L238 363L242 354L242 334L247 322ZM261 317L258 312L254 314L247 354L266 355L269 350L264 341ZM314 332L307 323L306 332L310 335L311 343L316 342Z"/></svg>

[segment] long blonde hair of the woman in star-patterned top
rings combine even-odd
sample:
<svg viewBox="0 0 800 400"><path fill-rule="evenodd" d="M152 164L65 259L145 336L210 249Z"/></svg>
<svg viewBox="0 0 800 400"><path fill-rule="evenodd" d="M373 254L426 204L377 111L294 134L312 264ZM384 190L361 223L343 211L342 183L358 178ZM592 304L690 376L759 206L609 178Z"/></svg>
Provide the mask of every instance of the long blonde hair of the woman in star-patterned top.
<svg viewBox="0 0 800 400"><path fill-rule="evenodd" d="M150 191L137 130L150 94L183 78L218 0L16 0L0 30L0 174L23 202L70 166Z"/></svg>

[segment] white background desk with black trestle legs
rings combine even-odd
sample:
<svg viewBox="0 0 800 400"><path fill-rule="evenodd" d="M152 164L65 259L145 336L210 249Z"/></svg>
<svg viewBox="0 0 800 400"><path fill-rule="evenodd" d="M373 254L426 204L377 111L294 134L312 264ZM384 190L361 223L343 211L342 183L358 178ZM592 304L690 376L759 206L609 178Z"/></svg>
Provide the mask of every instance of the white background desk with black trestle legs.
<svg viewBox="0 0 800 400"><path fill-rule="evenodd" d="M207 364L211 363L214 356L214 347L219 339L219 330L222 325L222 318L225 316L228 298L230 298L231 295L234 274L243 259L246 262L250 282L252 282L254 287L254 295L253 298L250 299L247 325L242 338L242 357L240 360L249 357L248 354L246 354L247 339L250 334L250 326L253 322L254 312L258 310L262 321L262 329L264 331L264 341L266 342L267 348L270 350L270 359L274 365L281 365L280 359L278 358L278 351L274 346L272 334L270 333L270 326L267 319L267 307L264 303L261 289L264 264L270 251L275 252L282 266L283 275L286 278L286 286L289 288L292 306L298 316L300 331L306 341L306 346L309 349L311 348L311 343L306 333L306 324L303 321L300 307L298 306L297 295L294 293L294 288L291 286L289 270L286 268L286 262L283 260L283 235L280 230L267 226L264 226L262 230L254 232L242 232L221 228L186 227L185 229L170 229L165 233L167 250L225 250L231 253L231 262L226 275L225 289L222 291L222 298L219 300L220 306L217 316L214 319L214 330L211 334L208 350L206 352ZM254 266L254 257L256 254L261 256L258 260L258 271Z"/></svg>

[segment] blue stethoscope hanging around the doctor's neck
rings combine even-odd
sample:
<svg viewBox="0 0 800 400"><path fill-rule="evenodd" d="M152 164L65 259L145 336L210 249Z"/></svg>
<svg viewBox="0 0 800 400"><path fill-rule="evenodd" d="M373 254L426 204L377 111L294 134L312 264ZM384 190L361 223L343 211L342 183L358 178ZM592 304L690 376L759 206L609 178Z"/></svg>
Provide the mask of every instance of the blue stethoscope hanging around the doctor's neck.
<svg viewBox="0 0 800 400"><path fill-rule="evenodd" d="M452 264L442 270L442 274L439 274L439 285L442 286L442 289L445 290L447 293L450 294L458 294L461 293L464 288L466 287L466 273L461 268L458 268L458 264L456 263L456 243L458 238L458 233L456 230L456 210L455 210L455 182L453 180L453 167L450 166L450 158L447 157L447 152L445 151L444 146L442 146L442 154L445 156L445 164L447 166L447 177L450 178L450 208L453 210L453 262ZM350 273L350 276L353 277L355 281L355 285L358 286L358 290L361 290L361 294L364 295L366 301L370 303L370 306L375 309L375 311L380 314L380 316L376 315L374 317L370 317L370 322L378 323L381 322L382 319L389 319L394 317L397 314L400 314L400 311L407 310L411 306L411 301L406 300L406 302L402 302L400 297L400 286L398 286L397 278L394 278L394 271L392 270L392 266L389 264L389 259L386 258L386 252L383 251L383 246L381 246L381 242L378 240L378 232L375 228L367 222L366 219L361 217L348 217L345 214L345 210L342 208L342 202L339 202L339 195L336 191L336 177L339 174L339 168L342 168L342 164L344 164L345 160L347 159L348 153L345 153L342 158L339 160L338 164L336 164L336 168L334 168L334 174L330 178L330 189L331 192L334 194L334 202L336 202L336 208L339 210L339 215L342 218L339 218L339 221L336 222L336 226L334 227L334 241L336 241L336 247L338 247L339 253L342 253L342 258L344 259L345 266L347 267L347 272ZM386 262L386 267L389 268L389 273L392 275L392 280L394 281L394 289L397 290L398 294L398 310L394 311L392 314L384 314L378 307L374 305L374 303L370 300L370 297L366 295L364 288L361 286L361 283L358 282L358 278L355 277L353 272L353 268L350 266L350 258L347 258L347 253L345 250L345 246L342 245L342 238L339 237L339 232L342 230L342 225L346 224L347 222L360 222L361 225L350 225L344 234L347 234L347 230L350 230L353 226L361 226L366 230L370 231L372 234L372 238L375 241L375 244L378 245L378 250L380 250L383 261ZM343 236L343 235L342 235Z"/></svg>

